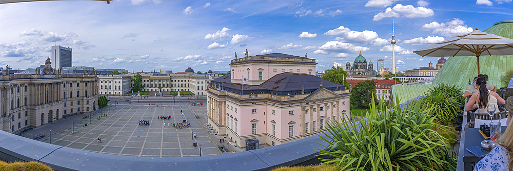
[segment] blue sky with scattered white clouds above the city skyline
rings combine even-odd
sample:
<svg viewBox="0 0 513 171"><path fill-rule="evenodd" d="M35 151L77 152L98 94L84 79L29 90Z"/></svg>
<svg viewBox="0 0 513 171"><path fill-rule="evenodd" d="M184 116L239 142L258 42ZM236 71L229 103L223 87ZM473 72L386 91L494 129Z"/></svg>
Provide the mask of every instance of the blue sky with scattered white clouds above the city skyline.
<svg viewBox="0 0 513 171"><path fill-rule="evenodd" d="M477 1L44 1L0 4L0 66L35 68L52 45L73 66L129 71L228 71L235 53L284 53L317 70L359 53L399 70L436 64L413 51L513 19L512 0ZM378 70L377 66L374 66Z"/></svg>

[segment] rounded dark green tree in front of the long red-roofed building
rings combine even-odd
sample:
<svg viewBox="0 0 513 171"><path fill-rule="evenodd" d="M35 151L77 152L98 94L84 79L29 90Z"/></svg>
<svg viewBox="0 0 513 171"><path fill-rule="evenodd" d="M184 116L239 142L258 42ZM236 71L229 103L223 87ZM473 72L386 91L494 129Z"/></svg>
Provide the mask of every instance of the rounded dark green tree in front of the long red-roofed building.
<svg viewBox="0 0 513 171"><path fill-rule="evenodd" d="M378 102L376 98L376 83L374 80L365 80L354 85L351 90L351 106L367 109L372 103Z"/></svg>

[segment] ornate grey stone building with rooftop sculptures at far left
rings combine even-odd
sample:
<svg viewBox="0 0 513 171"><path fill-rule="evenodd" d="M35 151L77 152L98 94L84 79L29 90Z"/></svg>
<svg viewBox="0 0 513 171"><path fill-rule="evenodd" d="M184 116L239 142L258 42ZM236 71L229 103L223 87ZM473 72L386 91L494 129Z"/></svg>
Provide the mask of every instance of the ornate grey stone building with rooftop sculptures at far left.
<svg viewBox="0 0 513 171"><path fill-rule="evenodd" d="M0 75L0 129L15 133L95 110L96 75L62 75L50 67L49 60L37 74Z"/></svg>

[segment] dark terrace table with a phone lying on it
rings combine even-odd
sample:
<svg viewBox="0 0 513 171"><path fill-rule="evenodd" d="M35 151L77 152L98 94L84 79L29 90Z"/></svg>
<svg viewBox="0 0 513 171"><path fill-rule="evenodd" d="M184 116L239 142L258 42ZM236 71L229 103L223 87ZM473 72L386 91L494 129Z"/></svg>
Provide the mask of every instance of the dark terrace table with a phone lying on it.
<svg viewBox="0 0 513 171"><path fill-rule="evenodd" d="M507 126L502 126L501 132L504 133ZM479 133L479 128L466 128L465 129L465 144L464 148L465 151L463 152L463 163L465 171L472 171L472 163L473 162L479 162L481 158L474 156L470 152L467 151L467 148L471 146L480 146L481 147L481 141L485 140L484 137Z"/></svg>

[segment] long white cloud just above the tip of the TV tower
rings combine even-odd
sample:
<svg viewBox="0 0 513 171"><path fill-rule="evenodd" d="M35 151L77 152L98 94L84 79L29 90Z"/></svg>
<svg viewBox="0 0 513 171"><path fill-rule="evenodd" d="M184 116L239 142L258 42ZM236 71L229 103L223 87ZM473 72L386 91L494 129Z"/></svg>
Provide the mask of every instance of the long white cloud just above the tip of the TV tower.
<svg viewBox="0 0 513 171"><path fill-rule="evenodd" d="M399 17L400 15L407 18L430 17L435 15L435 12L425 7L413 7L412 5L397 4L393 8L388 7L385 12L380 12L374 15L373 21L379 21L385 17Z"/></svg>

